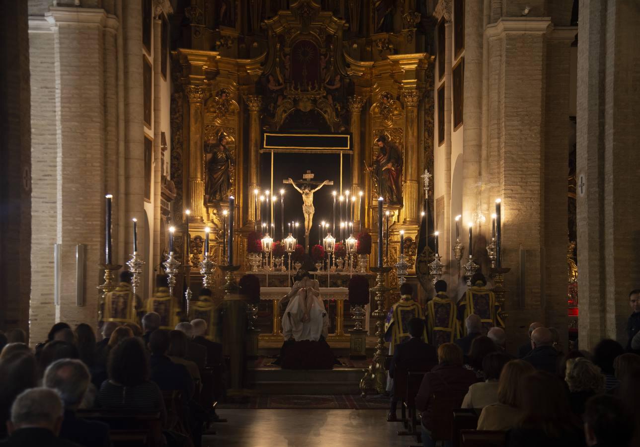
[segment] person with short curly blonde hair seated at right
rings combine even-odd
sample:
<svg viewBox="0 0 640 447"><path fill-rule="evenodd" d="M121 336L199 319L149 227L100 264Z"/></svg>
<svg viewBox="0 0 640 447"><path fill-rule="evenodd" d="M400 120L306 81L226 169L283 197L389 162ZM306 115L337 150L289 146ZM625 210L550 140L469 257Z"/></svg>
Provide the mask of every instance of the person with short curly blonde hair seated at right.
<svg viewBox="0 0 640 447"><path fill-rule="evenodd" d="M569 404L577 416L584 414L584 404L589 397L604 393L604 374L584 357L566 361L564 382L569 387Z"/></svg>

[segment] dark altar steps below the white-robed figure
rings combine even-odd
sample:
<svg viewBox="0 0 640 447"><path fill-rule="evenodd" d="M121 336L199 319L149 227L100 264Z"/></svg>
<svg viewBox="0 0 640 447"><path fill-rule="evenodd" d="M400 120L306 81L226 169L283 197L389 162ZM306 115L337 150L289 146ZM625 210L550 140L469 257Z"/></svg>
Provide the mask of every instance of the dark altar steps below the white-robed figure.
<svg viewBox="0 0 640 447"><path fill-rule="evenodd" d="M260 394L358 394L363 369L335 366L333 370L282 370L264 366L248 369L247 384Z"/></svg>

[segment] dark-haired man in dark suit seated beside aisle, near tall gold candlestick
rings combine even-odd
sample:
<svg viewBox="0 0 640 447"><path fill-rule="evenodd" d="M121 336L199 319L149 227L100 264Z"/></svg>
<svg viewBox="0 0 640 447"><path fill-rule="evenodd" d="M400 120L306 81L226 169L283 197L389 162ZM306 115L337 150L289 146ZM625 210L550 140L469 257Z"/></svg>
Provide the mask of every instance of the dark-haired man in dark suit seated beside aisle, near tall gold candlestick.
<svg viewBox="0 0 640 447"><path fill-rule="evenodd" d="M428 370L438 364L436 349L422 341L424 333L424 320L412 318L408 322L409 340L396 345L394 357L389 367L389 377L394 379L396 372L404 373L408 370ZM387 421L397 421L396 418L397 396L392 394Z"/></svg>

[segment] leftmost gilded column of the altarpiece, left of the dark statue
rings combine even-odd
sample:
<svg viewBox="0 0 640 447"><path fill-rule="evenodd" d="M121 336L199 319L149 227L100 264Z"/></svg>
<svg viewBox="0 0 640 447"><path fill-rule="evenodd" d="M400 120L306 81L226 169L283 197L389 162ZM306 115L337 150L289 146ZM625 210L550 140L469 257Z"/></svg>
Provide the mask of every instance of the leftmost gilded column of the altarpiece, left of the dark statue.
<svg viewBox="0 0 640 447"><path fill-rule="evenodd" d="M189 208L191 221L202 222L204 208L203 162L204 141L202 123L202 100L204 89L199 86L186 88L189 98Z"/></svg>

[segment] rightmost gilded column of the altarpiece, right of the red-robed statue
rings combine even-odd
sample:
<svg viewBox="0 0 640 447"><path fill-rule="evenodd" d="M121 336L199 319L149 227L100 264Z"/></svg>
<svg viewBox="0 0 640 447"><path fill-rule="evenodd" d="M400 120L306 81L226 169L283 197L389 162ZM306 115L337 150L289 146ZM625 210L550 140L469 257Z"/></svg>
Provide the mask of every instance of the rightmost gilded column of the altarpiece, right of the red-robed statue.
<svg viewBox="0 0 640 447"><path fill-rule="evenodd" d="M418 90L403 90L400 93L404 102L406 126L404 145L404 182L403 210L404 224L418 224Z"/></svg>

